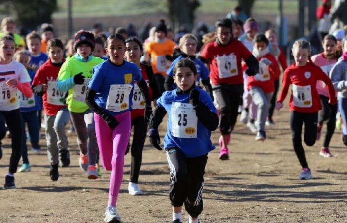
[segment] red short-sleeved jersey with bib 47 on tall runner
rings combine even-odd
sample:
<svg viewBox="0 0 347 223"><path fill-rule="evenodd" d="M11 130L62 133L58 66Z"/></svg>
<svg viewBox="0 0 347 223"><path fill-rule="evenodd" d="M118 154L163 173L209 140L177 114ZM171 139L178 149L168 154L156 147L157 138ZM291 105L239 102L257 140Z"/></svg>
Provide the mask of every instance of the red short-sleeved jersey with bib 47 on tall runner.
<svg viewBox="0 0 347 223"><path fill-rule="evenodd" d="M241 60L246 60L252 53L233 39L228 45L218 45L217 41L208 43L201 52L201 57L210 62L210 79L213 85L243 84Z"/></svg>

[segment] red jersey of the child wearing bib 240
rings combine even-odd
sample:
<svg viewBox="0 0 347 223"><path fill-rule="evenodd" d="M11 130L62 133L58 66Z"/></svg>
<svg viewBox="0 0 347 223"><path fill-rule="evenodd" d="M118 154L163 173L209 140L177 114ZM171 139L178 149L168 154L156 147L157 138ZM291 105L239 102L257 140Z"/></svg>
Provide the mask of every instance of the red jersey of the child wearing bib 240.
<svg viewBox="0 0 347 223"><path fill-rule="evenodd" d="M53 65L51 62L51 59L48 59L36 71L36 74L32 83L32 85L40 85L40 84L48 85L49 89L47 89L47 91L43 94L42 101L43 101L43 108L44 108L45 114L49 116L56 115L60 109L66 107L66 105L63 105L62 102L57 103L61 105L54 105L47 102L48 92L50 92L50 96L53 95L54 97L59 97L60 99L65 98L65 94L63 92L58 92L58 90L54 88L57 82L57 77L58 77L58 73L61 68L61 65L60 66Z"/></svg>

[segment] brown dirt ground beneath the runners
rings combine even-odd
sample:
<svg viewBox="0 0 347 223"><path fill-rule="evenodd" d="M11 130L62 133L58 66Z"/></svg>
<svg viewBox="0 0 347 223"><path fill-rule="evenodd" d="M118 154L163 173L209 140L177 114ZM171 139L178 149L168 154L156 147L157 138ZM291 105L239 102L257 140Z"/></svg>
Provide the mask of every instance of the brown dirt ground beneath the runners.
<svg viewBox="0 0 347 223"><path fill-rule="evenodd" d="M218 149L209 154L203 192L201 223L260 222L347 222L347 148L341 133L333 136L333 158L318 152L322 144L305 147L313 179L298 180L301 167L292 149L289 112L275 112L276 125L268 127L268 139L256 142L244 124L232 133L230 160L218 160ZM165 134L166 122L161 125ZM325 127L324 131L325 132ZM212 135L217 146L218 131ZM108 199L110 173L88 180L78 166L75 135L69 136L71 166L59 168L57 182L49 179L46 151L29 151L32 171L15 175L17 189L0 190L0 222L96 223L103 222ZM40 141L45 148L45 141ZM29 146L30 148L30 146ZM3 142L0 184L8 170L9 139ZM143 196L128 194L130 156L126 156L124 179L117 210L124 222L156 223L171 221L168 197L169 168L164 152L146 141L140 175ZM184 222L188 214L183 211Z"/></svg>

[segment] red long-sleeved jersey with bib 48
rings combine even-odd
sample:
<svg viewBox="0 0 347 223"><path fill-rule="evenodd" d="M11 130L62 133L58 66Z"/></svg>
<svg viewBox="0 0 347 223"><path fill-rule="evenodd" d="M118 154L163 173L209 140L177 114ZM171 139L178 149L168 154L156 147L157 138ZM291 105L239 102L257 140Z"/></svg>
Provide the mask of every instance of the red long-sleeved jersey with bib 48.
<svg viewBox="0 0 347 223"><path fill-rule="evenodd" d="M315 64L308 62L298 67L290 65L283 74L282 89L277 101L283 102L288 93L289 85L292 84L290 96L290 111L302 113L315 113L321 109L321 103L316 89L318 80L323 81L329 89L329 99L332 104L337 102L334 86L329 77Z"/></svg>

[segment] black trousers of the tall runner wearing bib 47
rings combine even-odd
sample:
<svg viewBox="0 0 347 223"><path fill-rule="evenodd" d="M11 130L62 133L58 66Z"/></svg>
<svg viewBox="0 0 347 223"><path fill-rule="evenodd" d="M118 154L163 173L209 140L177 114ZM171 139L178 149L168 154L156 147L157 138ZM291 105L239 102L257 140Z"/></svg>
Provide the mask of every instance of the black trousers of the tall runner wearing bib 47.
<svg viewBox="0 0 347 223"><path fill-rule="evenodd" d="M212 86L219 104L219 130L222 135L232 132L238 115L238 106L243 93L243 84L230 85L222 84Z"/></svg>

